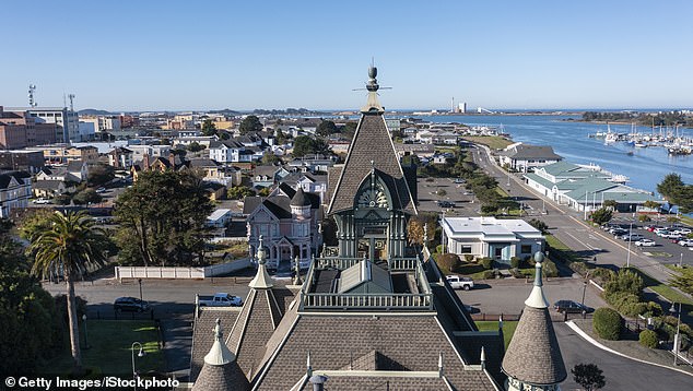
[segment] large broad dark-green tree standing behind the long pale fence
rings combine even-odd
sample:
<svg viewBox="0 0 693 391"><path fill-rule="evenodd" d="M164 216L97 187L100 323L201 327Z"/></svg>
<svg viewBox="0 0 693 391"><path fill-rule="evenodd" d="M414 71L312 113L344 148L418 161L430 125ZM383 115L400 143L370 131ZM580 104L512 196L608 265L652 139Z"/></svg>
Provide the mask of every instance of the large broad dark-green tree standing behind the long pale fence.
<svg viewBox="0 0 693 391"><path fill-rule="evenodd" d="M213 210L196 173L142 173L116 202L120 261L162 266L201 262L205 222Z"/></svg>

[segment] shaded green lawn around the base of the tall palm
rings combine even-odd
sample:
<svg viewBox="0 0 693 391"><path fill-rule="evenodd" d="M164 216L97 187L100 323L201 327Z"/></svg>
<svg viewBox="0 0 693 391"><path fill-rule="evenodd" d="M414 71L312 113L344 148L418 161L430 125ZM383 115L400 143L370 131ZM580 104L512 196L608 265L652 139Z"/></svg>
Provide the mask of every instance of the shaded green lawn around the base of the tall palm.
<svg viewBox="0 0 693 391"><path fill-rule="evenodd" d="M69 337L67 339L69 340ZM127 375L132 374L131 346L140 342L144 347L144 357L138 357L136 347L136 367L141 374L163 371L164 355L158 348L158 332L153 321L130 320L87 320L87 341L90 348L82 348L82 360L92 374ZM80 343L84 344L84 328L80 325ZM68 346L64 354L55 357L39 370L40 374L64 375L72 370L72 356Z"/></svg>

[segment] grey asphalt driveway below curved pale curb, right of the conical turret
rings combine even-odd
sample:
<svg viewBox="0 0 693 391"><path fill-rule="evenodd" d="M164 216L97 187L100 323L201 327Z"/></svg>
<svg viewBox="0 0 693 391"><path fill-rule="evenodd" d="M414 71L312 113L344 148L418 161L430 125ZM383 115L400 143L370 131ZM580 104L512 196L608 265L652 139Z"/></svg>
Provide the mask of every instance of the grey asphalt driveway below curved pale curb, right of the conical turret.
<svg viewBox="0 0 693 391"><path fill-rule="evenodd" d="M587 343L565 323L554 322L568 378L561 384L564 391L582 390L573 381L571 369L577 364L596 364L607 379L602 390L690 390L693 377L674 370L637 363Z"/></svg>

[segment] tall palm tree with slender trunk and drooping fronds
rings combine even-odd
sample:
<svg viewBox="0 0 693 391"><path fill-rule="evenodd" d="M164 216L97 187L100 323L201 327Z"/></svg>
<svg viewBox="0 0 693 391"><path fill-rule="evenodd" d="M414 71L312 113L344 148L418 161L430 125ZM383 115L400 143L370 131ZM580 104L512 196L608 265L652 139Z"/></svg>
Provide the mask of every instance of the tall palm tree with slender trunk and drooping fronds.
<svg viewBox="0 0 693 391"><path fill-rule="evenodd" d="M78 328L74 280L82 276L90 265L105 261L103 229L94 226L94 220L84 211L56 212L48 217L48 225L30 238L28 252L35 257L32 273L46 276L62 273L68 286L68 321L74 369L82 370L82 353Z"/></svg>

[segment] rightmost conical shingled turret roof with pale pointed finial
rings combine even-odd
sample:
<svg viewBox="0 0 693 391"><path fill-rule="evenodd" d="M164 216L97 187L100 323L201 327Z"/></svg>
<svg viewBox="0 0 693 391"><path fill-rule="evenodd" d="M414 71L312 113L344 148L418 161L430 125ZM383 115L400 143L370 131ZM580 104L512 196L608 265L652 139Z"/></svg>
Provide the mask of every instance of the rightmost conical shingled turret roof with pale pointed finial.
<svg viewBox="0 0 693 391"><path fill-rule="evenodd" d="M525 301L525 310L503 358L502 370L526 384L557 384L565 380L567 371L541 284L543 256L538 252L535 260L535 286Z"/></svg>

